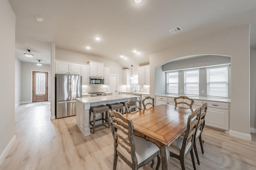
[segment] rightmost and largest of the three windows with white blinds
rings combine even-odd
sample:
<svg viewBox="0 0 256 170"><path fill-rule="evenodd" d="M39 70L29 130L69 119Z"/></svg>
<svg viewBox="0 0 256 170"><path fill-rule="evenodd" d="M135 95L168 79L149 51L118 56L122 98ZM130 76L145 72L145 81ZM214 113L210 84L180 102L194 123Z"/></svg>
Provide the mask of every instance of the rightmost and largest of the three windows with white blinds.
<svg viewBox="0 0 256 170"><path fill-rule="evenodd" d="M206 68L207 96L228 98L228 66Z"/></svg>

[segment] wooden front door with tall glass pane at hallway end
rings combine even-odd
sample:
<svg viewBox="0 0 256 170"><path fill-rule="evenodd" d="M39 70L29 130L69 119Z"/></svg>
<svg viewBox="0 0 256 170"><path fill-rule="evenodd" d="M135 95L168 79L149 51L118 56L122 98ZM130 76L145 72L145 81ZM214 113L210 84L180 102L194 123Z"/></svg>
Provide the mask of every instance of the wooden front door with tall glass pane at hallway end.
<svg viewBox="0 0 256 170"><path fill-rule="evenodd" d="M48 101L48 72L33 71L32 102Z"/></svg>

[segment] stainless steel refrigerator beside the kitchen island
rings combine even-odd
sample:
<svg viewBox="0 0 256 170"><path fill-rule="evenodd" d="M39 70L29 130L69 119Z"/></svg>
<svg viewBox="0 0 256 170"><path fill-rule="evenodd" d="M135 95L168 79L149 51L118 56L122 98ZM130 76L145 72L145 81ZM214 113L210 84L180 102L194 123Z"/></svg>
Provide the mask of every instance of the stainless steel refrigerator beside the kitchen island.
<svg viewBox="0 0 256 170"><path fill-rule="evenodd" d="M76 115L76 98L82 97L82 76L55 74L56 118Z"/></svg>

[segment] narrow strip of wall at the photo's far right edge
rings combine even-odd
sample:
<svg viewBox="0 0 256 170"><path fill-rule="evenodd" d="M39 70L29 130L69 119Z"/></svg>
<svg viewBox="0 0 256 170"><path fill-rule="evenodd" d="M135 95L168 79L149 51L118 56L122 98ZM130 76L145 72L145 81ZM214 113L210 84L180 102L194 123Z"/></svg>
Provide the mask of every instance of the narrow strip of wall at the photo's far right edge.
<svg viewBox="0 0 256 170"><path fill-rule="evenodd" d="M256 133L256 50L250 52L250 124Z"/></svg>

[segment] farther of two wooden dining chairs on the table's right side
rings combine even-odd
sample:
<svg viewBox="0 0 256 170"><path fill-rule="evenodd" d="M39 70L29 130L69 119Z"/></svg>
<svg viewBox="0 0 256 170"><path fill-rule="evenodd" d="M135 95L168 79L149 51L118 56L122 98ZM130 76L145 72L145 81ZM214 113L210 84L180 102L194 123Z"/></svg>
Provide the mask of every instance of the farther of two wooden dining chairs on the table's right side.
<svg viewBox="0 0 256 170"><path fill-rule="evenodd" d="M193 148L194 148L194 151L195 151L195 154L196 154L196 160L197 160L198 165L200 165L200 160L199 160L198 152L197 152L197 149L196 149L196 140L199 139L202 154L204 154L203 141L202 141L202 132L203 132L203 129L204 129L204 123L205 123L204 117L206 115L206 110L207 110L207 103L204 103L203 106L200 107L200 120L199 120L198 125L196 127L196 133L194 135Z"/></svg>

